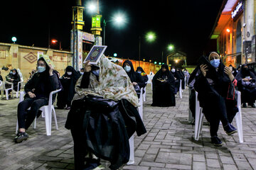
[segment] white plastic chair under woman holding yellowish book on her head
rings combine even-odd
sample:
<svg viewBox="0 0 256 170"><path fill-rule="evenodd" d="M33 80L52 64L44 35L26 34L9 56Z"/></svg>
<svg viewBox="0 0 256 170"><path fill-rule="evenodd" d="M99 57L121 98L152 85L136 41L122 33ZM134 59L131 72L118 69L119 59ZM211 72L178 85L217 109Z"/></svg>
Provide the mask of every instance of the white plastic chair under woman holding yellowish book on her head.
<svg viewBox="0 0 256 170"><path fill-rule="evenodd" d="M54 117L54 120L55 120L55 127L56 127L56 130L58 130L58 123L57 123L56 113L55 113L55 109L54 109L52 101L53 101L53 94L57 94L59 91L61 91L61 89L50 92L48 105L47 106L42 106L40 108L40 111L42 111L42 117L45 118L45 120L46 120L46 135L48 135L48 136L51 135L52 111L53 111L53 117ZM24 94L25 94L25 92L21 91L19 102L23 101ZM33 129L36 129L36 118L33 121L32 126L33 126ZM17 125L16 125L16 132L17 131L18 131L18 120L17 120Z"/></svg>

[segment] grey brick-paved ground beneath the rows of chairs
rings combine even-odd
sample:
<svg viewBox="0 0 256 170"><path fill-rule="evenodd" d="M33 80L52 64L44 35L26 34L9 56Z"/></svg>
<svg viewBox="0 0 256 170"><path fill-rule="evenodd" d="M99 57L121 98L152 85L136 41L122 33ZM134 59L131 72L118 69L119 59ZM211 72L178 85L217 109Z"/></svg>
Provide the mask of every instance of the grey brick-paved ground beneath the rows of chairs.
<svg viewBox="0 0 256 170"><path fill-rule="evenodd" d="M143 115L147 133L134 138L135 164L120 169L256 169L256 108L242 108L244 143L238 142L237 134L225 135L220 127L224 145L214 147L207 125L199 140L193 140L188 90L170 108L151 107L150 86L147 91ZM14 144L17 104L17 98L0 100L0 169L73 169L73 140L64 128L68 111L55 110L59 130L53 123L51 136L46 136L44 119L38 118L36 130L28 130L29 139Z"/></svg>

